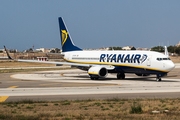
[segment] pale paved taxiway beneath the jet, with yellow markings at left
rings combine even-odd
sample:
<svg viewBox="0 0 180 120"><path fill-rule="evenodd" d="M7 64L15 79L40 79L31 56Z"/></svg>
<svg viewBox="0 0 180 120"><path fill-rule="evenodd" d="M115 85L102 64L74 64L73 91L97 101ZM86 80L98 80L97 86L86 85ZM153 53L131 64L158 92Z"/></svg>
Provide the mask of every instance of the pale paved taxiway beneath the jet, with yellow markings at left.
<svg viewBox="0 0 180 120"><path fill-rule="evenodd" d="M125 80L117 80L116 74L90 80L86 71L78 69L1 74L0 100L177 98L180 96L179 70L180 64L176 64L161 82L156 82L156 76L134 74L126 74Z"/></svg>

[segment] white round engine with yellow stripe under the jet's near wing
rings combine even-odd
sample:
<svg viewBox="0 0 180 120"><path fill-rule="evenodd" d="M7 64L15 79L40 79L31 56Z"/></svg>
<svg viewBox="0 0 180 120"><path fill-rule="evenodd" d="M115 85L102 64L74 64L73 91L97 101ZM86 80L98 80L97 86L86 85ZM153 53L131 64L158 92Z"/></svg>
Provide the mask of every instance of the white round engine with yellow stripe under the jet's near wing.
<svg viewBox="0 0 180 120"><path fill-rule="evenodd" d="M101 66L91 67L88 70L88 74L91 78L106 77L107 73L107 69Z"/></svg>

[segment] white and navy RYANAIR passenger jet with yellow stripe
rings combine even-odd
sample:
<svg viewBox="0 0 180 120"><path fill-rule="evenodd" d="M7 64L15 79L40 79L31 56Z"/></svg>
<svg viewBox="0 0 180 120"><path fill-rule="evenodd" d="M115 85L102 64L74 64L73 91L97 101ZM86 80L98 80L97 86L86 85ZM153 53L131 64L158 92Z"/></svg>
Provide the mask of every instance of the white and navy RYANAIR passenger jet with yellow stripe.
<svg viewBox="0 0 180 120"><path fill-rule="evenodd" d="M36 61L15 59L20 62L39 62L75 66L85 70L92 80L105 78L108 73L117 73L117 79L125 79L125 73L137 76L156 75L156 81L161 81L174 67L168 56L154 51L117 50L117 51L83 51L77 47L70 36L62 17L58 18L62 55L66 62ZM9 59L13 59L4 46Z"/></svg>

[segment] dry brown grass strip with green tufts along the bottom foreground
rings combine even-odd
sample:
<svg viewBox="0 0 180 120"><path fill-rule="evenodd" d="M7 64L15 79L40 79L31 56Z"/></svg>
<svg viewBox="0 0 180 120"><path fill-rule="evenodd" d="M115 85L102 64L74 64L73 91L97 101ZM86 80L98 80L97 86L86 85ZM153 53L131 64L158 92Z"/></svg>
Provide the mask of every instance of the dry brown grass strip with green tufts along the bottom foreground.
<svg viewBox="0 0 180 120"><path fill-rule="evenodd" d="M180 119L180 98L33 101L0 103L0 119ZM158 114L152 111L159 111Z"/></svg>

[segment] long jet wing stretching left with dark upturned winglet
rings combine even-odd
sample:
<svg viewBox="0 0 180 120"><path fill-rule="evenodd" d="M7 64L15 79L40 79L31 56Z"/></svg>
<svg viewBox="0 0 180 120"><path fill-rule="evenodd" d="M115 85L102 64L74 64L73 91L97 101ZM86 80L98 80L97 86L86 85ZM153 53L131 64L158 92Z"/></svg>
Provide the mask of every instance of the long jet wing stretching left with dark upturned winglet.
<svg viewBox="0 0 180 120"><path fill-rule="evenodd" d="M102 66L105 67L107 70L114 69L114 66L111 65L96 65L96 64L83 64L83 63L73 63L73 62L55 62L55 61L37 61L37 60L22 60L22 59L13 59L9 52L7 51L6 47L4 46L4 49L7 53L7 56L9 59L16 60L19 62L35 62L35 63L48 63L48 64L60 64L60 65L71 65L71 66L81 66L81 67L92 67L92 66Z"/></svg>

